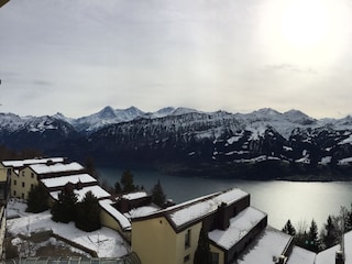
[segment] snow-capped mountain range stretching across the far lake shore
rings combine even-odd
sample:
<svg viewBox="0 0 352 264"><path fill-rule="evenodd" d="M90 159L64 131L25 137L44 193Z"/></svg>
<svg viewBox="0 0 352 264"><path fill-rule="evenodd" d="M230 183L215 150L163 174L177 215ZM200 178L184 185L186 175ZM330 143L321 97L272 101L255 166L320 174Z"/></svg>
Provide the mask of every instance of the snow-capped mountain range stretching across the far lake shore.
<svg viewBox="0 0 352 264"><path fill-rule="evenodd" d="M177 175L253 179L350 179L352 118L314 119L299 110L251 113L106 107L61 113L0 113L0 144L99 164L155 166Z"/></svg>

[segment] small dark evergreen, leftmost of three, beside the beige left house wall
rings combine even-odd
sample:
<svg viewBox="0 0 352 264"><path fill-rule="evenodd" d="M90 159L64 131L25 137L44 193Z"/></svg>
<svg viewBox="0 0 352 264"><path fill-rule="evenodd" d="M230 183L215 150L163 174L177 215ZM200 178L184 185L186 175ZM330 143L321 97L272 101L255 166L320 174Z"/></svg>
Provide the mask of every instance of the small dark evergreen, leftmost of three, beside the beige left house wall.
<svg viewBox="0 0 352 264"><path fill-rule="evenodd" d="M42 184L34 186L34 188L29 191L26 211L37 213L47 210L47 199L48 194L45 187Z"/></svg>

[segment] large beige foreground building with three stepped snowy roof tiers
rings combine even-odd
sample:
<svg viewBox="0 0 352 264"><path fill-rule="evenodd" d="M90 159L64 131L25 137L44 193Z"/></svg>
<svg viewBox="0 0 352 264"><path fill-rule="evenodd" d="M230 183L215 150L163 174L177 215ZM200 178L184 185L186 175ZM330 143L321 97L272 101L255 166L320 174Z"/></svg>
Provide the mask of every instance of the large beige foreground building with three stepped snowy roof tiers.
<svg viewBox="0 0 352 264"><path fill-rule="evenodd" d="M146 264L191 264L201 228L212 264L284 264L293 250L293 237L268 227L250 195L232 188L132 218L132 251Z"/></svg>

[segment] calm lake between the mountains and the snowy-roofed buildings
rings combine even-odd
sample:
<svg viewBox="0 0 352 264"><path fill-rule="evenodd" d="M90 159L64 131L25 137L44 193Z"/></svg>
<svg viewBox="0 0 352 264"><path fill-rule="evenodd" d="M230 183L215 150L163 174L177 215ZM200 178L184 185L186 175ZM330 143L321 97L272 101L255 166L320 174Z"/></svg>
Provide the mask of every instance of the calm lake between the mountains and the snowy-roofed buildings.
<svg viewBox="0 0 352 264"><path fill-rule="evenodd" d="M99 167L101 178L113 186L121 179L124 169ZM322 228L329 215L338 215L341 206L350 209L352 182L301 183L256 182L238 179L207 179L176 177L158 170L131 168L134 184L151 190L161 180L167 198L175 202L186 201L218 190L238 187L251 194L251 205L268 215L268 224L282 229L288 219L295 228L310 226L312 219Z"/></svg>

